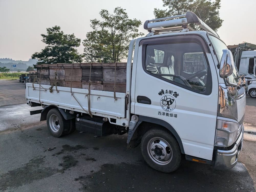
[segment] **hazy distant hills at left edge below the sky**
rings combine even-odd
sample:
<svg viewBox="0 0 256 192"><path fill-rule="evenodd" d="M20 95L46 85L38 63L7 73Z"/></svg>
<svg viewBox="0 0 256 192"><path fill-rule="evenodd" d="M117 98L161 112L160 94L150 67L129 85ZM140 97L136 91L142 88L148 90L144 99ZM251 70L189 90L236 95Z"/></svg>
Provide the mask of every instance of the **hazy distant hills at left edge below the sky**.
<svg viewBox="0 0 256 192"><path fill-rule="evenodd" d="M33 67L33 64L36 64L37 61L37 59L29 59L28 61L22 61L13 60L10 58L0 58L0 67L6 67L12 70L12 65L16 65L16 67L13 67L13 71L26 71L28 66Z"/></svg>

